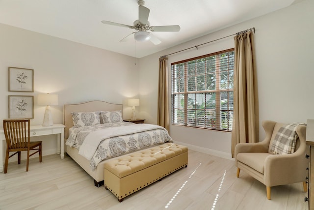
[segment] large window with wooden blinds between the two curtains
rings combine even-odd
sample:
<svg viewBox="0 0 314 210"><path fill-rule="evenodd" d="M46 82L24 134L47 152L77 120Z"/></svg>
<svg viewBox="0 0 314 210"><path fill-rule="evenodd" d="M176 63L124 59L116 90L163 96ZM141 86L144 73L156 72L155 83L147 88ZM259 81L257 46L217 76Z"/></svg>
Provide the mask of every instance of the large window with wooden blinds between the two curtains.
<svg viewBox="0 0 314 210"><path fill-rule="evenodd" d="M235 50L171 63L172 124L231 131Z"/></svg>

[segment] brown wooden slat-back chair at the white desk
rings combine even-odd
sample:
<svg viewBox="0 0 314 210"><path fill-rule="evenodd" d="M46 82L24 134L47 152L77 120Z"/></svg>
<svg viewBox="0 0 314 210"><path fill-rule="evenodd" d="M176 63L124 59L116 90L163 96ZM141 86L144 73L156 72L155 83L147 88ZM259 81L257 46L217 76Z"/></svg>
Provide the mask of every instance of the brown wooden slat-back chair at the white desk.
<svg viewBox="0 0 314 210"><path fill-rule="evenodd" d="M29 157L39 152L39 162L41 162L41 141L30 142L29 120L7 119L3 120L3 130L6 140L6 155L4 163L4 174L7 173L9 158L18 154L18 163L21 163L21 151L27 151L26 171L28 171ZM38 148L36 148L38 147ZM36 150L29 154L30 150ZM9 156L9 152L15 152Z"/></svg>

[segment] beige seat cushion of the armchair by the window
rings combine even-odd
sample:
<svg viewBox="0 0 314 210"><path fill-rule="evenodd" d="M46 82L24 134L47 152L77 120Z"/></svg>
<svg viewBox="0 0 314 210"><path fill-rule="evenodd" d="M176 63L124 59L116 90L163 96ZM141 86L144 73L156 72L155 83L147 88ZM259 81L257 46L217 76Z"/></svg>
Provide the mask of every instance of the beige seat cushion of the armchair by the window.
<svg viewBox="0 0 314 210"><path fill-rule="evenodd" d="M264 162L265 159L270 155L274 154L266 152L241 152L236 155L236 159L264 174Z"/></svg>

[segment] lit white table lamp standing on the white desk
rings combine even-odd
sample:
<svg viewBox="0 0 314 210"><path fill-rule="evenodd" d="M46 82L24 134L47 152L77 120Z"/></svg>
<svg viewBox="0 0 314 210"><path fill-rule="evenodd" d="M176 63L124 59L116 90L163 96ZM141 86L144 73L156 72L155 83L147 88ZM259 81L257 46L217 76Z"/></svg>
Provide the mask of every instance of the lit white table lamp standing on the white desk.
<svg viewBox="0 0 314 210"><path fill-rule="evenodd" d="M52 126L53 121L50 106L58 105L58 95L49 93L38 94L37 103L38 105L46 105L43 126Z"/></svg>

